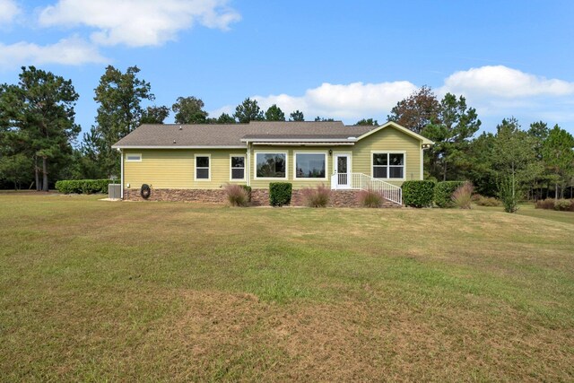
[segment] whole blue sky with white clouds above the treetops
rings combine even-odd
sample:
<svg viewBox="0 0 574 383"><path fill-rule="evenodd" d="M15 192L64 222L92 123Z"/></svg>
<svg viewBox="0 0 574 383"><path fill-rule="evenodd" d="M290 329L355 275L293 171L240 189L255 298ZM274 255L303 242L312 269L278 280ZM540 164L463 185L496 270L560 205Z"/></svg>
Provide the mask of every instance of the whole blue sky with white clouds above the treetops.
<svg viewBox="0 0 574 383"><path fill-rule="evenodd" d="M0 0L0 83L20 66L72 79L86 131L106 65L141 69L155 104L246 97L285 114L386 120L426 84L477 109L574 134L572 1ZM173 115L167 120L171 122Z"/></svg>

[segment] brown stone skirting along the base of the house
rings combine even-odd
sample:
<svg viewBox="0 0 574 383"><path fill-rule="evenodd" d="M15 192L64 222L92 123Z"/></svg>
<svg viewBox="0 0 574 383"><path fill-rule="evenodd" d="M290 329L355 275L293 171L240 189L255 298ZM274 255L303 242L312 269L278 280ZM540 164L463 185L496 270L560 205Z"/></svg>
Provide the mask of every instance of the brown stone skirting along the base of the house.
<svg viewBox="0 0 574 383"><path fill-rule="evenodd" d="M332 190L329 206L331 207L361 207L357 196L359 190ZM152 194L146 200L140 196L139 189L124 189L126 201L172 201L172 202L201 202L212 204L226 204L227 197L223 189L152 189ZM269 205L268 189L253 189L251 191L251 205ZM303 196L300 190L293 190L291 206L303 206ZM382 207L401 207L390 201Z"/></svg>

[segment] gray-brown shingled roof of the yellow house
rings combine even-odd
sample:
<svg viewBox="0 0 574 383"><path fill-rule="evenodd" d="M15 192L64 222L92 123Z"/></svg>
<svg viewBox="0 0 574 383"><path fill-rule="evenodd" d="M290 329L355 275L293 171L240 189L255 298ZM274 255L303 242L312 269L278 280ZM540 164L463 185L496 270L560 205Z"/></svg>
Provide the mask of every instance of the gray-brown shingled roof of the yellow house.
<svg viewBox="0 0 574 383"><path fill-rule="evenodd" d="M113 147L245 146L241 139L341 140L376 126L344 126L341 121L252 121L249 124L142 125Z"/></svg>

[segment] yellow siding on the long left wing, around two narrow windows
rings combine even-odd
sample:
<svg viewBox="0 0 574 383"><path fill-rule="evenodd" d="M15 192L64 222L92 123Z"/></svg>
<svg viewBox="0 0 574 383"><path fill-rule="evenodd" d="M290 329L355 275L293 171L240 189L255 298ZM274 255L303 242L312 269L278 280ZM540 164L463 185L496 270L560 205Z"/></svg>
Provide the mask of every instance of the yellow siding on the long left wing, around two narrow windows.
<svg viewBox="0 0 574 383"><path fill-rule="evenodd" d="M127 153L142 154L141 162L124 162L124 183L130 188L139 188L142 184L155 188L219 188L228 183L246 183L230 181L230 154L246 155L241 149L125 150L124 158ZM195 180L195 156L204 154L211 156L211 179Z"/></svg>

